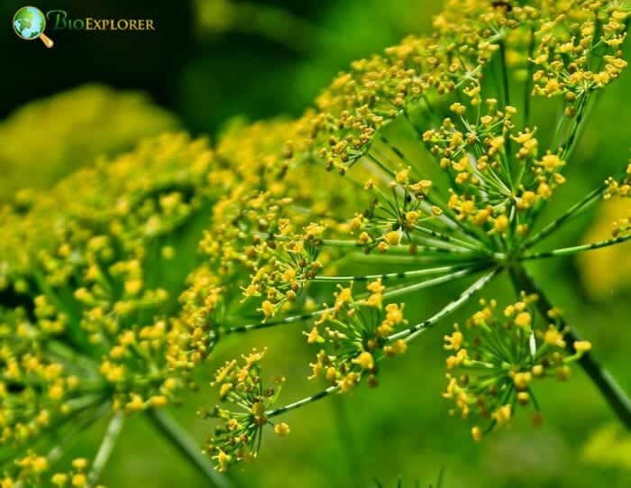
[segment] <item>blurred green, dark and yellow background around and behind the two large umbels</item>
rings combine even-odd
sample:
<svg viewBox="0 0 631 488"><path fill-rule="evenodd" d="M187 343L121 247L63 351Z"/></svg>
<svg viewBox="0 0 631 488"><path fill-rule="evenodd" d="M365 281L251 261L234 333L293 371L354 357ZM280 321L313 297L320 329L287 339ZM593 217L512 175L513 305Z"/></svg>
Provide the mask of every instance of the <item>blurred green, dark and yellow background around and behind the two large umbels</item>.
<svg viewBox="0 0 631 488"><path fill-rule="evenodd" d="M441 2L430 0L135 0L124 5L41 0L37 6L44 10L62 8L77 17L152 17L158 26L157 32L115 35L48 31L57 45L47 51L41 43L18 39L8 27L21 5L5 0L0 6L0 18L7 20L0 32L5 73L0 201L14 198L27 185L51 185L79 165L127 150L146 135L184 128L214 137L234 115L251 120L299 115L349 61L380 51L407 33L430 32L431 17L441 8ZM548 108L542 103L537 109L538 120L545 121ZM568 174L572 183L556 197L555 206L568 207L624 164L628 127L627 70L591 114ZM23 144L36 144L36 161L30 161ZM603 227L598 219L609 218L611 211L581 217L548 244L583 240ZM553 301L631 391L631 245L618 248L613 258L607 253L592 253L584 262L541 262L530 269L545 277ZM614 280L608 267L629 271L613 273ZM446 303L462 286L419 296L414 313L437 309L437 302ZM510 300L508 290L508 282L496 282L487 296ZM448 416L440 395L442 337L448 326L437 327L385 368L377 391L361 387L288 414L290 436L267 436L259 460L237 468L234 480L243 487L364 487L372 486L374 478L396 486L401 475L412 486L417 479L431 483L444 468L449 488L631 487L631 437L616 427L608 406L578 369L567 384L542 384L541 428L533 428L525 415L474 444L468 425ZM231 337L206 371L199 372L199 382L206 386L185 399L187 408L173 410L200 441L212 428L195 413L195 406L214 404L207 387L210 372L253 345L270 346L265 363L270 375L288 376L282 400L317 390L306 382L313 350L297 330ZM127 423L105 472L107 486L206 486L145 420ZM103 427L87 433L76 453L95 448Z"/></svg>

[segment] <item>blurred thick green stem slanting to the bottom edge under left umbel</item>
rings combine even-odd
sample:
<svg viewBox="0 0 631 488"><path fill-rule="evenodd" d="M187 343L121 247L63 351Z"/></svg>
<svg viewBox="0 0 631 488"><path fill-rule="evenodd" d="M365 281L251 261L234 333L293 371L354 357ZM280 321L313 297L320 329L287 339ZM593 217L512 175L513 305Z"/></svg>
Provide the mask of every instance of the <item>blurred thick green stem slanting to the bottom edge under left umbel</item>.
<svg viewBox="0 0 631 488"><path fill-rule="evenodd" d="M197 446L195 440L175 420L171 419L167 413L162 410L151 409L147 410L147 418L151 420L153 427L160 434L169 439L169 443L178 449L188 463L206 477L209 482L207 485L209 488L231 488L233 486L233 483L223 474L219 474L213 469L210 460L202 454L201 448Z"/></svg>

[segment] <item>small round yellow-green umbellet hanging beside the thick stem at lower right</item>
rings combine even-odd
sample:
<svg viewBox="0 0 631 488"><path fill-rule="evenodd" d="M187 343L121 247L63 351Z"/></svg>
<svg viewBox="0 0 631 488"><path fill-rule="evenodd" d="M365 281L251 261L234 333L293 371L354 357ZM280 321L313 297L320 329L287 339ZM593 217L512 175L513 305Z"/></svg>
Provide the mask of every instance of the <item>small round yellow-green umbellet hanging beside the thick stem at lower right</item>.
<svg viewBox="0 0 631 488"><path fill-rule="evenodd" d="M545 377L567 380L569 364L591 349L588 341L574 341L572 350L567 347L559 310L550 310L539 326L533 307L537 299L523 295L502 314L495 300L482 299L484 308L466 327L456 324L453 333L444 336L444 348L452 354L446 359L449 373L443 396L454 402L454 411L463 419L489 419L488 427L471 428L477 441L495 425L508 423L516 407L532 404L538 410L535 382ZM538 414L534 420L540 420Z"/></svg>

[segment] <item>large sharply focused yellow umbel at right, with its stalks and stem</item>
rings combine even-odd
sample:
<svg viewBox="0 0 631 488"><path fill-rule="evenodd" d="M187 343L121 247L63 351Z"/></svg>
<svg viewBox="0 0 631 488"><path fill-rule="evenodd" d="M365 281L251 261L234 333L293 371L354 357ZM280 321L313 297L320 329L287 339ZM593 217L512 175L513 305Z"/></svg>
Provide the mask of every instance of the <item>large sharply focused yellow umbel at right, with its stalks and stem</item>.
<svg viewBox="0 0 631 488"><path fill-rule="evenodd" d="M603 198L629 195L621 163L619 174L596 177L593 191L572 207L553 206L555 193L572 182L572 157L590 106L626 69L620 46L628 15L621 2L448 2L432 36L408 37L353 62L286 142L261 156L259 166L267 161L276 175L268 186L218 204L232 211L215 216L201 250L219 267L219 281L229 270L223 289L242 295L233 308L242 313L214 317L215 342L305 324L316 354L311 377L328 386L289 404L293 410L364 379L377 384L382 357L405 352L506 273L518 301L505 321L493 318L492 305L471 334L458 329L449 336L454 354L445 396L464 417L472 411L487 419L486 427L480 422L472 429L474 439L508 423L516 405L538 409L530 381L566 379L571 363L581 365L630 425L628 401L590 354L590 343L526 270L531 261L631 237L622 219L605 239L540 247ZM539 134L537 124L545 121L532 108L537 98L555 109L551 134ZM300 181L273 198L294 171L314 166L340 175L331 186L328 180L312 186L312 194L325 187L320 198L290 197ZM322 178L330 177L323 172ZM344 273L349 262L373 271ZM443 308L427 310L416 323L402 317L416 292L464 279L469 285ZM369 283L357 298L356 282ZM389 310L401 315L384 327ZM478 366L475 374L459 371ZM215 446L211 455L216 459L222 450Z"/></svg>

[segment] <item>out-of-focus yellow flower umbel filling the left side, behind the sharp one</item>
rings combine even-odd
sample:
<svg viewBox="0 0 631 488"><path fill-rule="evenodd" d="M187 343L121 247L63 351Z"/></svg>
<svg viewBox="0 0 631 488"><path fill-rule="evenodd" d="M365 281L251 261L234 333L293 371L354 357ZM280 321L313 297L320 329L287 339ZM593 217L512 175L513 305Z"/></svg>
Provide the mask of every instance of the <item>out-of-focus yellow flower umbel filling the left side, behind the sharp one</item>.
<svg viewBox="0 0 631 488"><path fill-rule="evenodd" d="M173 313L187 271L175 260L194 255L197 240L180 233L205 220L213 164L205 140L164 134L3 210L3 486L66 486L50 478L59 445L194 387L187 327ZM94 485L82 476L72 486Z"/></svg>

